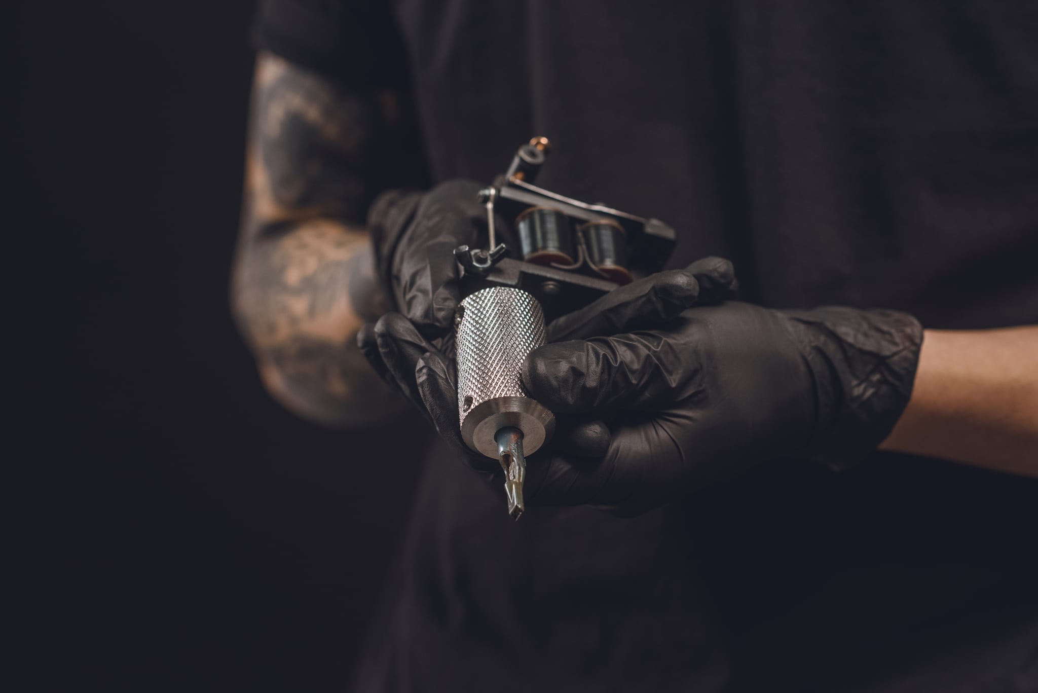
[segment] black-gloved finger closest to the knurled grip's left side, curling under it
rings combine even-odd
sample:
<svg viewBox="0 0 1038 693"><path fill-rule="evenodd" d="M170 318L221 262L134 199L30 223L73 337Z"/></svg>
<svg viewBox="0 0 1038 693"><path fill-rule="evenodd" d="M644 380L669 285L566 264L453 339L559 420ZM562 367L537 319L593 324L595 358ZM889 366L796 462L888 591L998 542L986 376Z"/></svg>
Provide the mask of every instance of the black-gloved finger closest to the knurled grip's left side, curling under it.
<svg viewBox="0 0 1038 693"><path fill-rule="evenodd" d="M454 364L439 351L430 351L418 358L415 369L416 387L429 411L436 432L469 467L479 472L500 470L497 460L472 452L461 437L458 421L458 381Z"/></svg>

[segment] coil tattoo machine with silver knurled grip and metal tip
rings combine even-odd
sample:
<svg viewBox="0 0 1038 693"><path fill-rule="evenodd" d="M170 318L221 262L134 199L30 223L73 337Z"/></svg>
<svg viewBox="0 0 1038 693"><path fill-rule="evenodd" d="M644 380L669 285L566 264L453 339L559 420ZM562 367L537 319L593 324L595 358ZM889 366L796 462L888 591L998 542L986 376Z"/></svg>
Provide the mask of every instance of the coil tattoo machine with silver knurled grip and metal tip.
<svg viewBox="0 0 1038 693"><path fill-rule="evenodd" d="M508 171L480 191L487 246L455 250L463 296L455 316L462 438L500 462L515 518L524 507L525 456L555 429L554 415L529 397L521 376L526 355L545 343L545 320L659 271L675 243L662 221L534 185L549 151L545 137L519 148ZM517 247L499 242L495 214L515 219Z"/></svg>

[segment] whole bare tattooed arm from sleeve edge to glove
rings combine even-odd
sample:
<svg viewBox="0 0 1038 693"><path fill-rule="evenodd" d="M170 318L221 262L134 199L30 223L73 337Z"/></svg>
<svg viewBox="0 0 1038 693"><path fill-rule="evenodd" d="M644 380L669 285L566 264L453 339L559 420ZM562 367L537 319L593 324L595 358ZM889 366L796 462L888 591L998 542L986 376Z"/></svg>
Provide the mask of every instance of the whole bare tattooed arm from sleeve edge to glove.
<svg viewBox="0 0 1038 693"><path fill-rule="evenodd" d="M401 111L393 94L351 94L269 55L257 63L235 312L268 389L325 424L394 408L356 332L386 310L367 205L420 170L405 163L416 145Z"/></svg>

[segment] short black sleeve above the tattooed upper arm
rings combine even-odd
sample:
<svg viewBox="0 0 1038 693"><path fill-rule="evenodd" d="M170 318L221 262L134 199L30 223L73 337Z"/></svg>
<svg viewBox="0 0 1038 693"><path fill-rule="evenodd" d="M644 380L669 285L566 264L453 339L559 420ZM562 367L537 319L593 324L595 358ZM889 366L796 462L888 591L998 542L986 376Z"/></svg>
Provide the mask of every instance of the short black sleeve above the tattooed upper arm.
<svg viewBox="0 0 1038 693"><path fill-rule="evenodd" d="M387 0L261 0L252 44L347 86L407 86L407 51Z"/></svg>

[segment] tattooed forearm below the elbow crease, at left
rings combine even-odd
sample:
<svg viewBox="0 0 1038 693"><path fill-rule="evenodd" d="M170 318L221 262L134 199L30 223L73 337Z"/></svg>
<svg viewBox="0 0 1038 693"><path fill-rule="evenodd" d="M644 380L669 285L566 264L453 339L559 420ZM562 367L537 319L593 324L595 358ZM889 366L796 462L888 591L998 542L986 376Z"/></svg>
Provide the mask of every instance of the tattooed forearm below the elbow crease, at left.
<svg viewBox="0 0 1038 693"><path fill-rule="evenodd" d="M243 254L235 308L268 391L326 425L358 424L394 410L397 398L367 366L356 335L383 312L371 276L371 242L342 222L316 219Z"/></svg>

